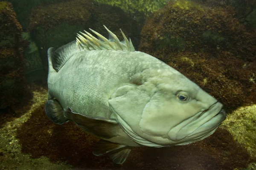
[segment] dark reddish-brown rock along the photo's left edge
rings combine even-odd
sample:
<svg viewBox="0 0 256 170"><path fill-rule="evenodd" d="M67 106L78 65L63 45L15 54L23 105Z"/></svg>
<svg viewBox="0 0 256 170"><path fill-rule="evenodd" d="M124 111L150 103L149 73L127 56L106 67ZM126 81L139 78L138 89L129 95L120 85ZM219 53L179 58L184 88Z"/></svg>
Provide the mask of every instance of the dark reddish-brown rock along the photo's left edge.
<svg viewBox="0 0 256 170"><path fill-rule="evenodd" d="M17 104L26 93L21 31L12 4L0 2L0 109Z"/></svg>

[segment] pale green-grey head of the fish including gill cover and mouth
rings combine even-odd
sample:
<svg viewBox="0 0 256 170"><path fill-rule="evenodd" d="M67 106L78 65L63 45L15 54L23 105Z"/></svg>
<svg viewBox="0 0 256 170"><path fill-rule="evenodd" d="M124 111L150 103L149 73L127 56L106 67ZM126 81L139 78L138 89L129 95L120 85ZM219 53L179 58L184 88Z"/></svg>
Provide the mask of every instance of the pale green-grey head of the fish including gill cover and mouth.
<svg viewBox="0 0 256 170"><path fill-rule="evenodd" d="M196 142L226 117L220 102L173 68L143 71L134 81L119 87L109 103L123 130L139 144Z"/></svg>

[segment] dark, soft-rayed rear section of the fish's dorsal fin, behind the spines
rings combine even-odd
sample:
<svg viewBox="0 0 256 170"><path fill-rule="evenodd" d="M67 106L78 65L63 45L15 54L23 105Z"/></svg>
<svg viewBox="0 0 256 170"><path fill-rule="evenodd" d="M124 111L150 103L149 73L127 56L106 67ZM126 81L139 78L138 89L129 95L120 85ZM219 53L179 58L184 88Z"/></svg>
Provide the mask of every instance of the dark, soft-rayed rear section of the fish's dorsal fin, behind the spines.
<svg viewBox="0 0 256 170"><path fill-rule="evenodd" d="M52 56L52 67L58 72L67 60L78 51L80 51L80 48L76 45L76 41L61 46L55 50Z"/></svg>

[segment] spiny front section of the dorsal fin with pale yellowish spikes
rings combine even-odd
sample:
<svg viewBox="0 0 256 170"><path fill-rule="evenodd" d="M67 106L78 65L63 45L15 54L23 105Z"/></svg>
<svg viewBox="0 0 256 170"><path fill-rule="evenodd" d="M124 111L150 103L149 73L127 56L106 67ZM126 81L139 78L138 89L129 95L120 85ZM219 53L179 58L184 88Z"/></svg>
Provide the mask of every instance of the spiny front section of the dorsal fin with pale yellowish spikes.
<svg viewBox="0 0 256 170"><path fill-rule="evenodd" d="M105 29L108 31L108 34L110 35L109 39L105 38L98 32L90 29L94 34L96 34L99 38L94 37L92 34L88 33L87 31L84 31L84 33L80 32L80 34L77 34L76 37L76 44L79 46L80 49L84 50L115 50L115 51L135 51L134 46L128 39L125 37L125 34L120 29L122 36L124 38L124 41L119 41L119 39L116 37L113 32L111 32L106 26L104 26Z"/></svg>

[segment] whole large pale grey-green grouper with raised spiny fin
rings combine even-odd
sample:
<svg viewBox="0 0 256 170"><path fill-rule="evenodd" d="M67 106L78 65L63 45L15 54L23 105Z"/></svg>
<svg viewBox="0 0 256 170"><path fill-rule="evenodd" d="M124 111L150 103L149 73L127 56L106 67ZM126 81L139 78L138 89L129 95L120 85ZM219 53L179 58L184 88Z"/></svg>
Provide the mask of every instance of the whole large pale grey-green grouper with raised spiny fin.
<svg viewBox="0 0 256 170"><path fill-rule="evenodd" d="M105 27L105 26L104 26ZM122 164L133 147L170 147L202 140L218 128L223 105L159 59L90 29L48 49L49 119L73 121L100 138L93 154Z"/></svg>

